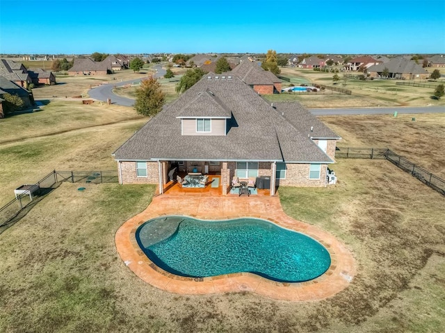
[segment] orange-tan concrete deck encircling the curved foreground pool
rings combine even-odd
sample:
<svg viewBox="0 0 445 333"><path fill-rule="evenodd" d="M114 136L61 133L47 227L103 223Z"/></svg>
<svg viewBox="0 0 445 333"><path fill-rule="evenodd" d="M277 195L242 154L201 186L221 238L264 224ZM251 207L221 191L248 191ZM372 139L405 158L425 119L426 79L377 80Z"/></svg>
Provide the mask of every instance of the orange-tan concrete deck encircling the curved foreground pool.
<svg viewBox="0 0 445 333"><path fill-rule="evenodd" d="M320 277L297 283L282 283L252 273L234 273L211 278L186 278L163 271L139 248L135 233L139 225L162 215L186 215L197 219L256 217L284 228L307 234L330 253L331 266ZM172 293L184 295L252 291L279 300L314 301L339 293L355 276L355 261L350 251L332 234L314 225L296 221L284 214L278 197L197 197L156 196L140 214L119 228L115 244L124 263L143 281Z"/></svg>

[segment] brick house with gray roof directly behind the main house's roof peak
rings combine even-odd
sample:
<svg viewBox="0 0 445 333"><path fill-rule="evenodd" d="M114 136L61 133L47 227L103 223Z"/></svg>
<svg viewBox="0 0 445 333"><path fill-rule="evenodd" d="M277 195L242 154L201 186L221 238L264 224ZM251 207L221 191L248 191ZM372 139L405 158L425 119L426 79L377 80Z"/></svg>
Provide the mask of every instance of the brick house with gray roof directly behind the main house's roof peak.
<svg viewBox="0 0 445 333"><path fill-rule="evenodd" d="M282 81L272 72L262 69L257 62L245 60L227 75L238 76L258 94L281 92Z"/></svg>

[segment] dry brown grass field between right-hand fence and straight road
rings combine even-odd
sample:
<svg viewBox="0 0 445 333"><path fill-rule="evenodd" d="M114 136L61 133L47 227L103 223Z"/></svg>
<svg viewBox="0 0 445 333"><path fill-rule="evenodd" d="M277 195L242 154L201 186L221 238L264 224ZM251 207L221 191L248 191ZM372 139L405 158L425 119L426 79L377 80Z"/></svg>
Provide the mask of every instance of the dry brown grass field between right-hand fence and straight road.
<svg viewBox="0 0 445 333"><path fill-rule="evenodd" d="M445 178L445 114L323 116L320 119L343 138L338 146L390 148Z"/></svg>

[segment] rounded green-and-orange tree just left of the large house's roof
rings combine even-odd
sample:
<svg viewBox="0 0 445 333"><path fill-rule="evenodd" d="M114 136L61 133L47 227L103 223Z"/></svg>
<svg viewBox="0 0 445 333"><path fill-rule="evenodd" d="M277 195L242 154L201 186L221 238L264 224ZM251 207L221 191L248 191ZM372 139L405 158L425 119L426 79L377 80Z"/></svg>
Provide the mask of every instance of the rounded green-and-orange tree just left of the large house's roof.
<svg viewBox="0 0 445 333"><path fill-rule="evenodd" d="M161 90L161 84L154 76L140 81L134 103L134 108L139 114L152 118L162 110L164 103L165 94Z"/></svg>

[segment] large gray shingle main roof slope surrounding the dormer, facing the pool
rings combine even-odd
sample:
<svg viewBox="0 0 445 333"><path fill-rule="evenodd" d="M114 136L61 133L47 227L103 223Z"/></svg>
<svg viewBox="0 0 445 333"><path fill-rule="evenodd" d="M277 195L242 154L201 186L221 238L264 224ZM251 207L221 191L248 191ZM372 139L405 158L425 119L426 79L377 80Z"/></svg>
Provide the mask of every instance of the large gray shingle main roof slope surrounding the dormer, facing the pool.
<svg viewBox="0 0 445 333"><path fill-rule="evenodd" d="M138 133L115 151L116 160L251 160L333 162L305 133L280 115L270 103L238 78L215 80L204 76L179 99L163 108ZM232 111L225 136L181 135L181 114L193 108L214 112L207 89ZM197 98L200 95L205 99ZM309 112L309 111L307 111ZM318 121L317 121L318 122ZM316 126L316 125L315 125Z"/></svg>

